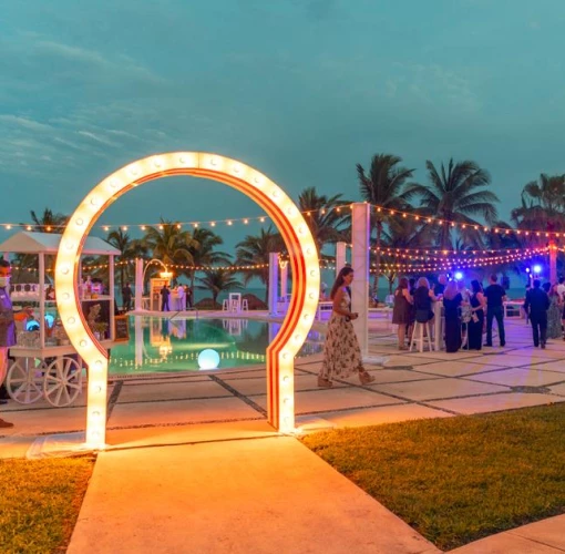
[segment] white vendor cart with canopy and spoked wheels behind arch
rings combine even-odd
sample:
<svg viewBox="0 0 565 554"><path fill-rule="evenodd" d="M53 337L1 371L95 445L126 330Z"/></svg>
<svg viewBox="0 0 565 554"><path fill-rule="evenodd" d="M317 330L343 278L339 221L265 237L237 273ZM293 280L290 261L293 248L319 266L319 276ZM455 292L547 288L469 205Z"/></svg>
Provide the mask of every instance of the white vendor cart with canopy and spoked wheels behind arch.
<svg viewBox="0 0 565 554"><path fill-rule="evenodd" d="M69 406L82 393L85 373L82 359L62 327L56 326L56 290L54 295L47 296L45 257L53 256L54 259L60 240L59 234L21 232L0 245L2 253L24 255L27 259L32 256L39 258L39 283L18 284L12 279L10 287L14 311L23 306L32 306L35 311L34 320L24 321L21 328L17 324L17 346L10 348L9 355L11 360L6 379L7 390L13 400L22 404L44 398L55 407ZM82 286L79 289L85 319L91 307L101 306L96 308L96 312L102 311L107 327L101 342L110 349L115 337L114 257L121 253L101 238L89 237L82 254L109 257L107 294L99 294L92 289L86 291ZM101 325L104 327L103 322Z"/></svg>

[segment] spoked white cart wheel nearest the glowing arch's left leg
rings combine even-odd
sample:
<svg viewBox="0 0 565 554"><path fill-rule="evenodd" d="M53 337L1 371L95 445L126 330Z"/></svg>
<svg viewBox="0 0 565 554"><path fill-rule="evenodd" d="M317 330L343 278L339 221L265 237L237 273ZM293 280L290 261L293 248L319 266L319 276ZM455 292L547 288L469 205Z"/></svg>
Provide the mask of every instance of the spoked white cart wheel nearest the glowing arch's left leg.
<svg viewBox="0 0 565 554"><path fill-rule="evenodd" d="M43 393L50 404L69 406L81 392L82 368L74 358L62 356L49 365L43 379Z"/></svg>

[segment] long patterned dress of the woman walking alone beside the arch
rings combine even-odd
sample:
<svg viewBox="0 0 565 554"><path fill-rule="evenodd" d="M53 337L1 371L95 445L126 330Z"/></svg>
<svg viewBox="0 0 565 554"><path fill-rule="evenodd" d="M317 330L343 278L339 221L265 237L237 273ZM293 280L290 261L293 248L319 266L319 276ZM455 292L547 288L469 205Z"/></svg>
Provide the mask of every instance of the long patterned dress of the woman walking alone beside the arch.
<svg viewBox="0 0 565 554"><path fill-rule="evenodd" d="M350 311L351 299L347 290L341 298L340 309ZM357 340L353 324L346 316L331 312L323 345L323 362L320 377L332 381L346 378L362 370L361 348Z"/></svg>

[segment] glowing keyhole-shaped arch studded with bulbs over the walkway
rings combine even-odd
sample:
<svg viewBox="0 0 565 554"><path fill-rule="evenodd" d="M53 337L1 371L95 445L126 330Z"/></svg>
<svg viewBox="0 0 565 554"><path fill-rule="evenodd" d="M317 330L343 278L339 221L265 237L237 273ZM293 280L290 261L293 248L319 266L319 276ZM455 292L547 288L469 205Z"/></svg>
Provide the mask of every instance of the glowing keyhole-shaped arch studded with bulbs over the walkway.
<svg viewBox="0 0 565 554"><path fill-rule="evenodd" d="M86 443L104 448L109 358L83 317L78 294L80 255L100 215L127 191L155 178L192 175L218 181L255 201L280 232L292 270L292 298L282 326L267 348L268 421L295 427L294 358L314 322L320 289L316 244L300 211L266 175L217 154L172 152L133 162L101 181L74 211L61 238L55 265L56 302L69 338L89 367Z"/></svg>

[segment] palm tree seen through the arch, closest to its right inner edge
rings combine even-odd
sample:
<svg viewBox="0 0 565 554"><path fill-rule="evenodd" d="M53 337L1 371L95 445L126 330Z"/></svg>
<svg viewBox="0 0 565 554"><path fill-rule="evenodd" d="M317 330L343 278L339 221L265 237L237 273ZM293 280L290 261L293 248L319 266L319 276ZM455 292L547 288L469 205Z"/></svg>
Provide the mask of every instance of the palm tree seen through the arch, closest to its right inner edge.
<svg viewBox="0 0 565 554"><path fill-rule="evenodd" d="M260 229L258 236L247 235L244 240L236 244L236 265L257 266L256 269L246 270L244 275L244 285L247 285L254 277L258 277L267 287L265 301L268 301L269 285L269 254L271 252L281 252L284 242L281 236L269 225L267 230Z"/></svg>

